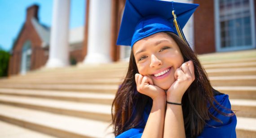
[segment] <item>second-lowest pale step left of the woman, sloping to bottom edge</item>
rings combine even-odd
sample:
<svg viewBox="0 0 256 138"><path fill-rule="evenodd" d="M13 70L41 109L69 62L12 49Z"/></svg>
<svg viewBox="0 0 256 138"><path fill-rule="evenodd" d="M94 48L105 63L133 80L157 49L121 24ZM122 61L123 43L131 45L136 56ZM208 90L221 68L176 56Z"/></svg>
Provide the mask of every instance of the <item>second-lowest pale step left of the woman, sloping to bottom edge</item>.
<svg viewBox="0 0 256 138"><path fill-rule="evenodd" d="M61 138L113 138L110 123L0 104L0 120Z"/></svg>

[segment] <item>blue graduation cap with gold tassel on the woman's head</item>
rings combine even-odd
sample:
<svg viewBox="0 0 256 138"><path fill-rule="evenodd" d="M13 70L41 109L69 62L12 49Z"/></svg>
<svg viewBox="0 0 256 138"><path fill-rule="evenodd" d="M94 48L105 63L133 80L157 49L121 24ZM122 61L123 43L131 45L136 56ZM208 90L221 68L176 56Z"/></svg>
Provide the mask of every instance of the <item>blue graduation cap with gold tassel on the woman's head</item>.
<svg viewBox="0 0 256 138"><path fill-rule="evenodd" d="M187 43L182 28L198 6L163 0L126 0L117 45L132 47L138 40L163 31L173 32Z"/></svg>

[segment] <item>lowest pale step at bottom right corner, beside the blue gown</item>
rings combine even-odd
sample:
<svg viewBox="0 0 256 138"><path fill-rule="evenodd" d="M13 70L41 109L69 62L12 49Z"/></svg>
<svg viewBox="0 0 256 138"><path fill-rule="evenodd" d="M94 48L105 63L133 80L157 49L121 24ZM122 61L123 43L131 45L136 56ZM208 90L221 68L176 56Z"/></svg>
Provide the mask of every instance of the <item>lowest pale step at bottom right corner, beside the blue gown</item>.
<svg viewBox="0 0 256 138"><path fill-rule="evenodd" d="M237 138L255 138L256 118L237 117L236 136Z"/></svg>

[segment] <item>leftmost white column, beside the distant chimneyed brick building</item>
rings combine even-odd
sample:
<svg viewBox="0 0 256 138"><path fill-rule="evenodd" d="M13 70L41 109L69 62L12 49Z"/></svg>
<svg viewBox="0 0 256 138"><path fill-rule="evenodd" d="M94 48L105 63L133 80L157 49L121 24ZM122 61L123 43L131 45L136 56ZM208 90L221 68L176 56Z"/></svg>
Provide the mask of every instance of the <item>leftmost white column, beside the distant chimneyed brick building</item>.
<svg viewBox="0 0 256 138"><path fill-rule="evenodd" d="M69 65L69 14L70 0L54 0L47 68Z"/></svg>

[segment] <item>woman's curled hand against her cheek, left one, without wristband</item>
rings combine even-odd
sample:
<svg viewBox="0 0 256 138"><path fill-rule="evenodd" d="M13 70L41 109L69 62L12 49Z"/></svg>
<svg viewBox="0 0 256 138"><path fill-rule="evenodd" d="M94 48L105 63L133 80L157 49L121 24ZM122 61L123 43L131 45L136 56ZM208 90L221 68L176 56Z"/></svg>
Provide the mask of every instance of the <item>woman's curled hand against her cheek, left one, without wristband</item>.
<svg viewBox="0 0 256 138"><path fill-rule="evenodd" d="M155 86L151 78L143 76L139 73L135 74L135 82L137 85L137 91L141 94L149 96L151 99L166 98L166 93L163 89Z"/></svg>

